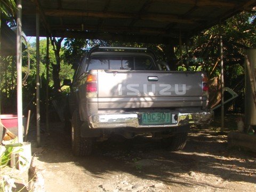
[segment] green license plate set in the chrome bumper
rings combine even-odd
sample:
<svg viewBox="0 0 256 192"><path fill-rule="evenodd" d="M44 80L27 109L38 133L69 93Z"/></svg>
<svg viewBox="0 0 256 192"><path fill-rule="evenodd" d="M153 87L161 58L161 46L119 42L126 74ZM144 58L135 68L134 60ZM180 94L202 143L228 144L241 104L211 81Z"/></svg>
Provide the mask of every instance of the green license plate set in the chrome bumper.
<svg viewBox="0 0 256 192"><path fill-rule="evenodd" d="M171 113L142 113L142 125L162 125L171 124Z"/></svg>

